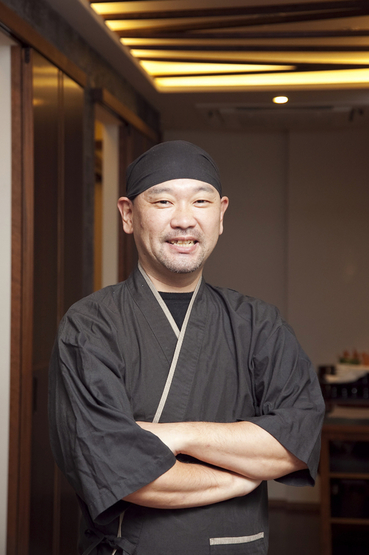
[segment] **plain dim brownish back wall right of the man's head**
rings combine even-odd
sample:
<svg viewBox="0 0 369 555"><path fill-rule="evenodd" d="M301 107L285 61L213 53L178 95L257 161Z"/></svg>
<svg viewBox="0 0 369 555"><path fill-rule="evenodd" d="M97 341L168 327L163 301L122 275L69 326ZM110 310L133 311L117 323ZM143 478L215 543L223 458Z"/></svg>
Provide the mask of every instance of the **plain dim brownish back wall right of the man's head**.
<svg viewBox="0 0 369 555"><path fill-rule="evenodd" d="M315 366L369 350L369 131L170 131L207 150L230 196L205 277L277 305ZM319 489L270 483L313 502Z"/></svg>

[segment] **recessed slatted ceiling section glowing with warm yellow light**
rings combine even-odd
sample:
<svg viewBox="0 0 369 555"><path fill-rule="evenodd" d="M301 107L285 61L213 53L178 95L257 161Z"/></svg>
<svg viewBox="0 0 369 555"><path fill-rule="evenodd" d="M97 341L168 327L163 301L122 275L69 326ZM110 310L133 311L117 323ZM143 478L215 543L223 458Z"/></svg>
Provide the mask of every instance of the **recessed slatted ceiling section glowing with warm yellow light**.
<svg viewBox="0 0 369 555"><path fill-rule="evenodd" d="M161 92L369 81L369 2L91 0Z"/></svg>

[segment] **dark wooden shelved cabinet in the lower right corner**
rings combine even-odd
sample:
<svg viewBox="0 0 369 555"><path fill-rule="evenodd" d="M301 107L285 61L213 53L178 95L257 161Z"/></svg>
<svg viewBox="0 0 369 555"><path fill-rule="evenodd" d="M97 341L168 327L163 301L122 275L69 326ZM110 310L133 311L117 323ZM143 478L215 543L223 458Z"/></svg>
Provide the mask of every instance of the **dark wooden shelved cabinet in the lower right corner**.
<svg viewBox="0 0 369 555"><path fill-rule="evenodd" d="M366 411L368 419L327 418L323 427L322 555L369 553L369 409Z"/></svg>

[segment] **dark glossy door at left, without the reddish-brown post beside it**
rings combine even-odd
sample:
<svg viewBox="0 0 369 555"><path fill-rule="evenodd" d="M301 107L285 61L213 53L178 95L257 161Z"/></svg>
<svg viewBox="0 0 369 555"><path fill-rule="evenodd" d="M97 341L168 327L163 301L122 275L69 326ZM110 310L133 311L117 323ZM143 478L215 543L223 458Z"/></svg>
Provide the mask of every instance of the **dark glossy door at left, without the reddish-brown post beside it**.
<svg viewBox="0 0 369 555"><path fill-rule="evenodd" d="M83 296L83 90L33 54L33 412L29 555L77 552L74 492L49 447L48 365L58 323Z"/></svg>

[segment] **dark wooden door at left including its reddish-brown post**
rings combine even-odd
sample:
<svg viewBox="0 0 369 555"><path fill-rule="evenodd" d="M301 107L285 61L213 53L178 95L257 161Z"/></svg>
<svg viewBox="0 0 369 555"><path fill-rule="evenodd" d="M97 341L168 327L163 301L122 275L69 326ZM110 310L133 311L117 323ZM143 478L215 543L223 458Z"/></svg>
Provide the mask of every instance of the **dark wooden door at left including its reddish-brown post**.
<svg viewBox="0 0 369 555"><path fill-rule="evenodd" d="M48 437L48 364L83 296L83 89L28 48L12 54L13 239L9 555L77 553L76 497Z"/></svg>

